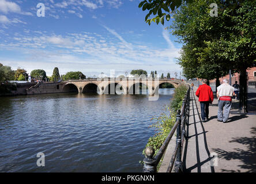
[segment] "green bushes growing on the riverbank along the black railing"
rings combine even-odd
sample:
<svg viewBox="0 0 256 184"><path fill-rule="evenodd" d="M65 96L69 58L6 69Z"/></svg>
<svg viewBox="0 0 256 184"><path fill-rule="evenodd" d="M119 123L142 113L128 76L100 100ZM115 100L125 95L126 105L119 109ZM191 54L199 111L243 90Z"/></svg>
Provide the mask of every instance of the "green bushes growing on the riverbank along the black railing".
<svg viewBox="0 0 256 184"><path fill-rule="evenodd" d="M172 127L176 121L176 111L182 107L182 101L186 94L187 86L180 85L175 89L174 97L172 98L170 106L165 107L164 113L160 114L159 117L152 119L157 120L156 123L150 125L150 128L156 129L156 134L149 137L146 147L153 147L155 149L155 155L164 143ZM145 148L146 148L145 147ZM145 154L145 149L142 151Z"/></svg>

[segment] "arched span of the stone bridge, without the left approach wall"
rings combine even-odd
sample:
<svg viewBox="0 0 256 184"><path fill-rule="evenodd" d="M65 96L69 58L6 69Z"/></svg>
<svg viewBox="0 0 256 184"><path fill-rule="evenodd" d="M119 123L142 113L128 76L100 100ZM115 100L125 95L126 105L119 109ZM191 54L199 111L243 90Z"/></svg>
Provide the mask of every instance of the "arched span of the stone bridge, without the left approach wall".
<svg viewBox="0 0 256 184"><path fill-rule="evenodd" d="M182 81L171 79L95 79L61 82L62 92L99 93L99 94L140 94L138 89L148 89L149 94L155 94L163 83L174 87ZM142 92L143 94L143 92Z"/></svg>

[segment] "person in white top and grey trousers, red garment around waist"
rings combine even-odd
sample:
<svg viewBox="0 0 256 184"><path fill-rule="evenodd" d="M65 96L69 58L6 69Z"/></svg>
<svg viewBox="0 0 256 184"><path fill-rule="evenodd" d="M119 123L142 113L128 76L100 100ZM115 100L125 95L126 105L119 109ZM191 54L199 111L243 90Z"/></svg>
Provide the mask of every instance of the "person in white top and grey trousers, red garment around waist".
<svg viewBox="0 0 256 184"><path fill-rule="evenodd" d="M228 79L223 80L223 84L217 87L217 98L219 100L219 110L217 121L227 122L230 109L231 97L234 95L234 87L228 84Z"/></svg>

